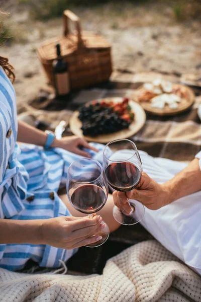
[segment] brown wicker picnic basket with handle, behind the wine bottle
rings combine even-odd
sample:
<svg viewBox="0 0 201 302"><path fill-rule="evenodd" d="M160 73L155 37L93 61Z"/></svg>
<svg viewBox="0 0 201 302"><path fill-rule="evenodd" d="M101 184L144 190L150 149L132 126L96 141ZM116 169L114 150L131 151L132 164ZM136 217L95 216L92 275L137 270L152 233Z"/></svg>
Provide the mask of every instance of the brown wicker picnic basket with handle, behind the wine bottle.
<svg viewBox="0 0 201 302"><path fill-rule="evenodd" d="M76 26L73 33L69 31L69 20ZM52 62L56 58L57 43L68 64L70 89L108 81L112 73L110 44L97 34L82 32L79 18L69 10L63 13L63 23L63 36L49 40L37 50L50 84L54 86Z"/></svg>

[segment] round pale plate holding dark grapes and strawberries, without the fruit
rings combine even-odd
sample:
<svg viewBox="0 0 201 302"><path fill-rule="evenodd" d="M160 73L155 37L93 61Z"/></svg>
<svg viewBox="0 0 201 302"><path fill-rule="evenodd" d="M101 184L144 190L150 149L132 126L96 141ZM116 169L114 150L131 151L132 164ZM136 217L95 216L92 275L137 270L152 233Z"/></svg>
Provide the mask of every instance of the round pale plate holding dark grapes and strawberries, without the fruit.
<svg viewBox="0 0 201 302"><path fill-rule="evenodd" d="M97 102L102 101L101 99L96 100ZM122 98L106 98L104 99L106 102L113 101L114 103L119 103L122 101ZM87 104L90 104L87 103ZM99 143L108 143L111 140L114 139L123 139L123 138L128 138L135 133L137 133L143 126L146 121L146 113L142 106L138 104L137 102L134 102L133 100L129 101L129 105L131 106L132 111L135 113L134 120L131 122L129 125L128 129L123 129L117 132L109 133L109 134L101 134L97 136L85 136L82 134L81 126L82 122L78 119L79 112L75 111L73 115L70 118L70 130L72 131L73 134L83 137L88 141L93 141L93 142L99 142Z"/></svg>

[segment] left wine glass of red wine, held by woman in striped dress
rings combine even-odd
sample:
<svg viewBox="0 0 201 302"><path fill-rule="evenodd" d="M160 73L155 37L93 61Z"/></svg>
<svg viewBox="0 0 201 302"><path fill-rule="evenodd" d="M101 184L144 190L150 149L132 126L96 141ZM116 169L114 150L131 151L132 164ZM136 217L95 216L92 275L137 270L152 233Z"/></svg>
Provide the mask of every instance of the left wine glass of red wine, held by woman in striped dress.
<svg viewBox="0 0 201 302"><path fill-rule="evenodd" d="M67 195L72 206L93 217L108 199L108 184L102 166L95 160L80 159L73 162L68 169L67 176ZM105 223L104 221L102 223ZM96 236L102 239L95 243L86 245L94 248L106 242L110 234L109 227L98 232Z"/></svg>

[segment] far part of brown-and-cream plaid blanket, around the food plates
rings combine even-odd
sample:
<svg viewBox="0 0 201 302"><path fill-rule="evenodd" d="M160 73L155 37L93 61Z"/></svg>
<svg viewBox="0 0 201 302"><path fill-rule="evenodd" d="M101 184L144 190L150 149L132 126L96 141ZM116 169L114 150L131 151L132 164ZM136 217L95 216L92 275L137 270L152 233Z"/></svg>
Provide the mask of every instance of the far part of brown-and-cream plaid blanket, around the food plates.
<svg viewBox="0 0 201 302"><path fill-rule="evenodd" d="M159 76L165 80L178 81L173 75L165 76L153 72L138 75L116 72L111 82L97 88L73 93L67 100L54 100L48 103L48 108L43 107L43 109L51 111L54 118L55 110L59 110L59 119L63 118L68 122L72 111L86 102L107 97L132 97L133 91L143 82L152 81ZM175 161L190 161L194 158L201 146L201 123L197 116L197 108L201 104L201 89L197 88L193 91L195 93L194 105L184 113L173 117L159 117L147 113L144 127L131 137L139 150L144 150L153 157ZM32 106L40 108L41 102L37 104L35 100ZM50 112L46 120L48 119L51 120Z"/></svg>

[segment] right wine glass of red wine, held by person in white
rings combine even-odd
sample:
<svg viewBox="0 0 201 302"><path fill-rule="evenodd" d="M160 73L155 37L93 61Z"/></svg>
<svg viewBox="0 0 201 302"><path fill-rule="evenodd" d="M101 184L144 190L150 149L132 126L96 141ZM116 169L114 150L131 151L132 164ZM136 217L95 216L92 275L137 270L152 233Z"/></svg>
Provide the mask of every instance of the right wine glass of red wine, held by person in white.
<svg viewBox="0 0 201 302"><path fill-rule="evenodd" d="M133 190L142 177L142 162L138 149L129 139L113 140L105 146L103 167L109 186L116 191ZM127 202L131 206L129 215L125 215L117 206L114 206L114 218L121 224L136 224L144 216L144 205L128 198Z"/></svg>

